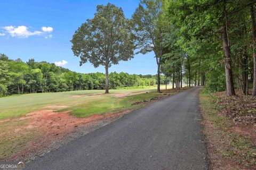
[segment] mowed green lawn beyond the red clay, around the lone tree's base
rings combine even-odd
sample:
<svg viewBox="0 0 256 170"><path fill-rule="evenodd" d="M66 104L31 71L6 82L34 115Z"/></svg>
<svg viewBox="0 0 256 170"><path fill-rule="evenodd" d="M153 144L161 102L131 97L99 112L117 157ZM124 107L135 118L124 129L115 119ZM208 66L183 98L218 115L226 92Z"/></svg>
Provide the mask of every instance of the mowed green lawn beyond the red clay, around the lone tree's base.
<svg viewBox="0 0 256 170"><path fill-rule="evenodd" d="M164 89L163 86L162 88ZM104 94L104 92L105 90L79 90L3 97L0 98L0 120L19 117L43 109L55 109L57 112L72 111L70 114L77 117L113 113L136 108L138 106L132 105L133 103L160 95L156 93L156 88L110 90L110 94ZM127 93L137 92L143 93L125 96ZM124 96L116 97L115 94Z"/></svg>

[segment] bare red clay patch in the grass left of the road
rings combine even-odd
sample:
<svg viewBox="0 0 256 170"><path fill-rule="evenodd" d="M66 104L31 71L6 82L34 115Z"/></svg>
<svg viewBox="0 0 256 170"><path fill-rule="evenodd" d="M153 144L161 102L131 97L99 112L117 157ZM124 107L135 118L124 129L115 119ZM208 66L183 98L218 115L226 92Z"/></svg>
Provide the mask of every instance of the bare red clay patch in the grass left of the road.
<svg viewBox="0 0 256 170"><path fill-rule="evenodd" d="M7 160L24 160L28 159L30 156L41 155L38 154L38 151L47 149L53 143L61 141L64 137L76 132L79 127L111 121L121 115L131 112L131 110L114 114L95 114L85 118L69 115L69 112L70 111L54 112L53 109L42 110L31 112L26 116L15 120L6 120L17 121L26 119L28 120L28 124L15 129L15 131L20 131L22 133L22 130L24 129L36 129L36 131L40 132L39 139L27 143L26 148L14 156L7 158Z"/></svg>

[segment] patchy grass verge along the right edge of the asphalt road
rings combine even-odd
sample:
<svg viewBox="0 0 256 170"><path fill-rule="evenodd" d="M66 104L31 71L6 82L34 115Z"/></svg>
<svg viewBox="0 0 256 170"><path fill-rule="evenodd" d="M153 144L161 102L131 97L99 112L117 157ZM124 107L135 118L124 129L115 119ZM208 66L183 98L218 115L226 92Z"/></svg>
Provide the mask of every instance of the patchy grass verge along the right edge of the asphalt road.
<svg viewBox="0 0 256 170"><path fill-rule="evenodd" d="M203 91L199 97L212 169L220 168L218 165L228 169L253 169L256 165L253 142L230 130L232 122L221 114L223 108L214 102L218 98Z"/></svg>

